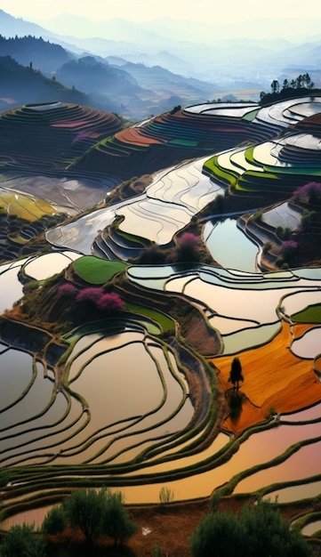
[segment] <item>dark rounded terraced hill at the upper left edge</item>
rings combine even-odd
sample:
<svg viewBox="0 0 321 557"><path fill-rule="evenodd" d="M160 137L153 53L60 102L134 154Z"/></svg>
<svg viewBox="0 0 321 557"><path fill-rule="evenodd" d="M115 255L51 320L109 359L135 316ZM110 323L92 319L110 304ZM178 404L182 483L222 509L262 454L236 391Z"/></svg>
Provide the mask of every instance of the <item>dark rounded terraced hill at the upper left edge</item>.
<svg viewBox="0 0 321 557"><path fill-rule="evenodd" d="M7 110L0 116L1 162L37 172L65 169L120 127L120 119L113 114L64 102Z"/></svg>

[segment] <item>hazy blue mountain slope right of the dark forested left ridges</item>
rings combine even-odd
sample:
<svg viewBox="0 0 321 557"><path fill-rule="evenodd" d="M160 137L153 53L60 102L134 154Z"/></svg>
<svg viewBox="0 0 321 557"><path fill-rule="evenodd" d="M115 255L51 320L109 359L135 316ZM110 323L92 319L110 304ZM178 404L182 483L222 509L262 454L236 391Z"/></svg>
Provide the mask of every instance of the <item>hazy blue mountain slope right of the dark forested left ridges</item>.
<svg viewBox="0 0 321 557"><path fill-rule="evenodd" d="M178 104L196 104L213 98L220 87L175 75L159 66L143 64L110 65L94 56L68 61L57 69L59 81L76 86L92 97L108 99L121 106L123 116L140 119L173 109Z"/></svg>

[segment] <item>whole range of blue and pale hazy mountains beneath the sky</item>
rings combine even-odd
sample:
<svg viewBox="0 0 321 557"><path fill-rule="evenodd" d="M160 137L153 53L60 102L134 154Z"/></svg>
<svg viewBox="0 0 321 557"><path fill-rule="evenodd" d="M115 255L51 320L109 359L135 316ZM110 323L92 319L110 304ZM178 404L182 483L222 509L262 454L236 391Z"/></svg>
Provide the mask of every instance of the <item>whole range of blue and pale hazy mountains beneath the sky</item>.
<svg viewBox="0 0 321 557"><path fill-rule="evenodd" d="M139 24L121 19L88 21L67 14L55 21L47 20L46 25L50 31L0 10L3 37L29 39L26 52L20 48L20 52L2 53L23 65L32 62L33 68L46 76L56 70L62 83L66 80L66 85L74 85L84 93L94 92L94 102L96 106L100 104L97 108L104 108L101 103L108 102L106 109L110 110L112 103L112 111L130 119L171 109L173 101L182 106L219 97L258 101L260 92L268 92L274 79L291 80L294 68L296 75L308 71L320 85L317 20L258 18L255 22L240 21L237 26L218 24L213 32L206 21L193 24L169 17ZM72 36L79 29L83 29L84 36ZM314 33L317 40L313 40ZM30 48L33 37L42 40L47 55ZM55 50L50 44L55 44ZM58 45L65 52L59 52ZM87 64L85 77L76 72L76 63L87 56L93 57L94 62L90 68ZM72 61L75 65L70 66L68 74ZM127 66L128 63L140 67ZM116 68L127 75L116 73ZM163 69L176 77L166 75ZM198 83L187 82L189 78Z"/></svg>

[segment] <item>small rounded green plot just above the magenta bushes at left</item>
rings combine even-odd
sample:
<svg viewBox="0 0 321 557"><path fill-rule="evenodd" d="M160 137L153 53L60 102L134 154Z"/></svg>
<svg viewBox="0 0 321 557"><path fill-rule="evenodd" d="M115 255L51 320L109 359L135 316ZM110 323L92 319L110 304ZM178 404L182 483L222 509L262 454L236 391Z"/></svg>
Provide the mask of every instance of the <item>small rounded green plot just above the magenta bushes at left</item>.
<svg viewBox="0 0 321 557"><path fill-rule="evenodd" d="M94 285L101 285L113 278L116 273L126 269L127 264L120 261L108 261L84 255L74 262L74 269L80 278Z"/></svg>

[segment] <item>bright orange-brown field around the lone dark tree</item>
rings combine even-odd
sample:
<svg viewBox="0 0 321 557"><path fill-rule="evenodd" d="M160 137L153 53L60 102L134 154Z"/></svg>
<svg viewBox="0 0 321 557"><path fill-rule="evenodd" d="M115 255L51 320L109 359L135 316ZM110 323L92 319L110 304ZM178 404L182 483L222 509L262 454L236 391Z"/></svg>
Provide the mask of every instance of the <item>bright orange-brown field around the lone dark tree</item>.
<svg viewBox="0 0 321 557"><path fill-rule="evenodd" d="M298 327L297 332L303 328ZM245 426L261 422L262 416L268 416L272 408L278 413L295 412L321 400L321 383L313 371L313 360L297 358L290 351L291 342L290 325L283 322L280 333L270 343L237 355L245 378L240 391L260 411L246 404L242 410L244 416L240 416L237 424L232 427L226 423L232 431L239 433ZM231 356L212 359L226 391L231 387L232 359Z"/></svg>

